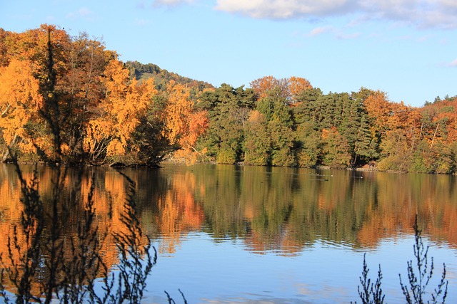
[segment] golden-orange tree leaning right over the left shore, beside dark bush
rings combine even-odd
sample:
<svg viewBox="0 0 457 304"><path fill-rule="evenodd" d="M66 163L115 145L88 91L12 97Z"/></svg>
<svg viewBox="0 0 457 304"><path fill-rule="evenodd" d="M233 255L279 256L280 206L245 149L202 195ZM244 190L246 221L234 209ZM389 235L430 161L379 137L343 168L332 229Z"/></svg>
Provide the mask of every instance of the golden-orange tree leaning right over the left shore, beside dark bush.
<svg viewBox="0 0 457 304"><path fill-rule="evenodd" d="M112 60L105 69L102 83L106 95L94 118L89 120L84 137L84 150L91 162L104 162L106 157L122 157L136 152L131 136L156 95L154 80L141 85L129 79L129 70L118 60Z"/></svg>

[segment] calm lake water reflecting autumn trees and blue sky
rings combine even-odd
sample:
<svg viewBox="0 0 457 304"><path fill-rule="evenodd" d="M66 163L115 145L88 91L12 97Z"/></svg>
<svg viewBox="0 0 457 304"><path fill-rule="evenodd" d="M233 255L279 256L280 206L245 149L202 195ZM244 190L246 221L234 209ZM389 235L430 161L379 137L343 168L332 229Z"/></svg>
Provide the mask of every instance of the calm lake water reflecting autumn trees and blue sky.
<svg viewBox="0 0 457 304"><path fill-rule="evenodd" d="M453 176L346 170L163 164L125 169L139 196L141 226L159 252L145 303L350 303L358 299L363 254L383 271L386 303L404 303L398 274L413 258L415 215L441 276L446 303L457 303L457 182ZM20 219L13 167L0 166L0 251ZM31 167L24 167L31 176ZM125 179L109 168L86 169L81 193L96 175L100 233L121 229ZM27 175L29 174L29 175ZM46 199L49 170L39 168ZM70 172L71 186L76 172ZM78 221L68 223L71 226ZM106 261L116 265L112 239ZM111 242L111 243L110 243ZM435 288L431 283L429 290Z"/></svg>

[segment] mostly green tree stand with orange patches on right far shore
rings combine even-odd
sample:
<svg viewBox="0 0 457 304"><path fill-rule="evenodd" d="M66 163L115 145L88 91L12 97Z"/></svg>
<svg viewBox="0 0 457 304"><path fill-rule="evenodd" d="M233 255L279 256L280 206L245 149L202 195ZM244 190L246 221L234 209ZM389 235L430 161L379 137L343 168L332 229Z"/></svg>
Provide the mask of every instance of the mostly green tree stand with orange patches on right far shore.
<svg viewBox="0 0 457 304"><path fill-rule="evenodd" d="M202 94L196 107L208 111L209 130L199 149L219 163L456 171L457 98L413 108L366 88L294 91L296 80L266 77L253 89L224 84Z"/></svg>

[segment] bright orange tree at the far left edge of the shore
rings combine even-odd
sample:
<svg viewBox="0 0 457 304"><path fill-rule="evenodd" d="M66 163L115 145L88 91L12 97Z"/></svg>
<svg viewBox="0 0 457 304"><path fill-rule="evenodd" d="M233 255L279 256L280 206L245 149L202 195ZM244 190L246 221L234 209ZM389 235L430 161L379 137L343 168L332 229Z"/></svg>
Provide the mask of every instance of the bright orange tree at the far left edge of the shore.
<svg viewBox="0 0 457 304"><path fill-rule="evenodd" d="M4 93L4 105L9 104L6 108L10 110L2 110L2 115L8 115L3 117L4 126L1 128L6 135L4 145L14 146L17 142L19 149L16 152L32 157L35 147L48 154L51 150L49 130L46 130L49 129L49 124L46 125L46 121L41 118L44 118L42 114L46 98L54 98L56 93L54 80L60 80L65 74L64 50L68 48L70 38L65 31L46 24L24 33L8 32L0 36L0 49L4 55L1 62L4 66L4 81L0 84L0 90ZM49 56L51 48L52 58ZM52 71L49 70L50 67ZM11 107L11 102L16 103L16 106ZM11 138L8 139L9 137ZM6 154L4 160L8 158Z"/></svg>

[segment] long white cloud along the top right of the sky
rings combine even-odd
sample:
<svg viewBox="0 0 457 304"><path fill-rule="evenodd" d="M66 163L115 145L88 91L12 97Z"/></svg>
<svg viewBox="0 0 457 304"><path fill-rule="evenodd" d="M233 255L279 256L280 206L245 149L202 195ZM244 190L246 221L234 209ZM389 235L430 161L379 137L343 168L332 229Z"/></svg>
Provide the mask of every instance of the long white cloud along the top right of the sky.
<svg viewBox="0 0 457 304"><path fill-rule="evenodd" d="M315 19L351 14L358 16L357 20L381 19L418 28L457 28L456 0L217 0L215 9L259 19Z"/></svg>

